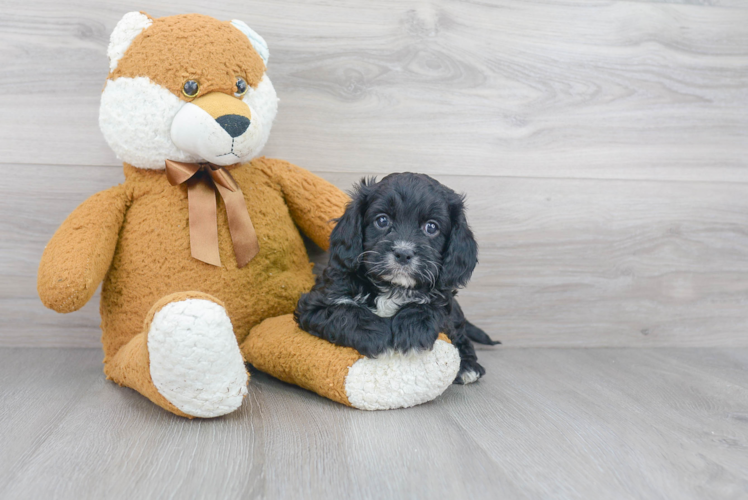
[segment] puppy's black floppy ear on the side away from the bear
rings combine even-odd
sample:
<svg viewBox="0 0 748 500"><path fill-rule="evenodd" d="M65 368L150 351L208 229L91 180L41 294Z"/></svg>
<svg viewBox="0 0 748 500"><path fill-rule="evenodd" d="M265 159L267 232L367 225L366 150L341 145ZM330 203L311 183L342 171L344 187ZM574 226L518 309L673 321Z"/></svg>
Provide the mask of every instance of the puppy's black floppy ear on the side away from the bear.
<svg viewBox="0 0 748 500"><path fill-rule="evenodd" d="M442 255L442 269L439 273L438 283L442 290L465 286L478 263L478 244L465 218L464 199L456 193L454 196L449 207L452 230Z"/></svg>

